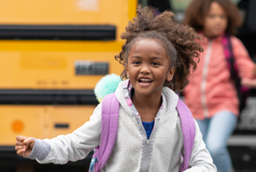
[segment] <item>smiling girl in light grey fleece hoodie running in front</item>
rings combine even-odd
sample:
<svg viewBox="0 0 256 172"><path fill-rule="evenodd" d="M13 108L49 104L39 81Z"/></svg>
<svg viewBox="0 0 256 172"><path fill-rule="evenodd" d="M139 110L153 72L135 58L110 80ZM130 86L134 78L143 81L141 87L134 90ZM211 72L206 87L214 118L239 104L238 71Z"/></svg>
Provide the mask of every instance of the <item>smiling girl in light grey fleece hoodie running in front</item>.
<svg viewBox="0 0 256 172"><path fill-rule="evenodd" d="M118 135L102 171L178 172L183 138L175 109L178 95L173 90L186 86L190 65L196 66L192 57L202 48L194 42L198 34L174 22L173 13L154 16L154 12L141 6L137 13L138 18L121 35L126 43L115 57L124 66L122 78L128 79L120 82L115 91L120 102ZM90 121L72 134L45 140L18 136L17 154L36 158L40 163L63 164L85 158L100 143L101 110L99 104ZM195 126L190 169L186 171L216 171Z"/></svg>

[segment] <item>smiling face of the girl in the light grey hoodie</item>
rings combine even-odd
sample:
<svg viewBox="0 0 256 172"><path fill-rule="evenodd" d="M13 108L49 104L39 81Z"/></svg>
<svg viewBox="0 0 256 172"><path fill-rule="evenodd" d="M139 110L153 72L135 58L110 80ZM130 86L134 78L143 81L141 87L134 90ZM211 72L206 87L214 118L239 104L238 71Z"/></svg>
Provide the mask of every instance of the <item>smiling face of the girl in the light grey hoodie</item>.
<svg viewBox="0 0 256 172"><path fill-rule="evenodd" d="M135 42L126 69L135 95L161 95L164 83L170 82L174 75L175 70L169 69L169 64L166 50L157 40L142 38Z"/></svg>

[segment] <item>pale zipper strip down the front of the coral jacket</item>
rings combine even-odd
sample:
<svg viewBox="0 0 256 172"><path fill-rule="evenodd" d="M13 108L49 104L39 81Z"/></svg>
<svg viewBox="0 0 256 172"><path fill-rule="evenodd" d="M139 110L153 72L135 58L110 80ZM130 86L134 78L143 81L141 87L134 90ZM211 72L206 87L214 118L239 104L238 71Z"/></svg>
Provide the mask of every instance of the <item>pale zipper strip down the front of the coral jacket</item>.
<svg viewBox="0 0 256 172"><path fill-rule="evenodd" d="M206 49L206 57L205 62L202 69L202 82L201 82L201 95L202 95L202 108L203 108L203 115L205 118L208 118L209 111L206 104L206 80L207 80L207 73L209 68L209 62L210 62L210 54L213 46L213 40L210 40L207 49Z"/></svg>

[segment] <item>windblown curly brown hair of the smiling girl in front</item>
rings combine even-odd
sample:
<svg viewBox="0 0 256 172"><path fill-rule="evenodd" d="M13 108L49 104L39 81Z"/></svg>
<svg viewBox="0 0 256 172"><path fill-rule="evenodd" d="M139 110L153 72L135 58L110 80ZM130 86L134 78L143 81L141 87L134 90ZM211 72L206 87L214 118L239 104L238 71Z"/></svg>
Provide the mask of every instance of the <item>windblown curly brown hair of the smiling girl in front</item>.
<svg viewBox="0 0 256 172"><path fill-rule="evenodd" d="M155 16L154 11L150 7L142 8L142 6L138 6L137 18L134 18L134 22L130 21L129 25L126 26L126 32L121 34L121 38L126 39L126 42L122 45L120 54L115 56L115 59L124 66L121 77L127 78L126 59L129 55L130 47L136 42L133 40L138 40L139 37L150 38L153 34L146 36L145 33L154 31L164 37L154 38L162 42L165 50L168 47L168 44L164 41L166 38L174 46L174 51L177 51L176 60L175 57L169 57L171 66L175 67L174 78L170 83L165 83L165 86L169 86L172 90L182 91L188 84L187 76L190 74L190 66L193 66L193 70L197 66L194 58L198 58L198 51L202 52L202 47L194 40L201 40L202 38L190 26L176 22L174 13L165 11ZM168 51L170 50L166 50L166 54L171 55Z"/></svg>

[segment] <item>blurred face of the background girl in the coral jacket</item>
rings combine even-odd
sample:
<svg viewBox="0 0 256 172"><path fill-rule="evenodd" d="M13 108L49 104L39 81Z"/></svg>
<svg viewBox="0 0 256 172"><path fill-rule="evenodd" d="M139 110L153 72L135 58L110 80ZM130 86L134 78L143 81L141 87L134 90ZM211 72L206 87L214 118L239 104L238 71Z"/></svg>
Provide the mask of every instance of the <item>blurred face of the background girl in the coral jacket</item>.
<svg viewBox="0 0 256 172"><path fill-rule="evenodd" d="M212 2L203 23L203 32L208 38L217 37L225 32L227 17L222 6L218 2Z"/></svg>

